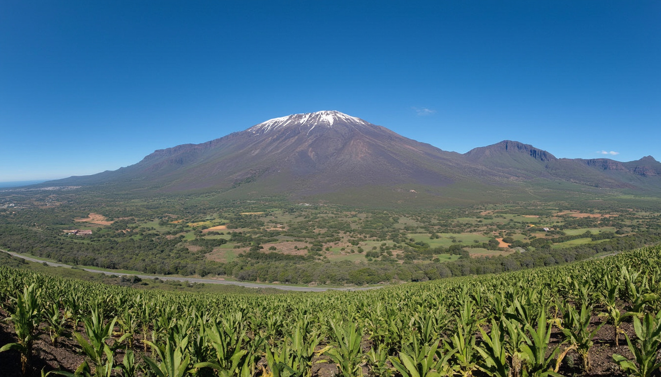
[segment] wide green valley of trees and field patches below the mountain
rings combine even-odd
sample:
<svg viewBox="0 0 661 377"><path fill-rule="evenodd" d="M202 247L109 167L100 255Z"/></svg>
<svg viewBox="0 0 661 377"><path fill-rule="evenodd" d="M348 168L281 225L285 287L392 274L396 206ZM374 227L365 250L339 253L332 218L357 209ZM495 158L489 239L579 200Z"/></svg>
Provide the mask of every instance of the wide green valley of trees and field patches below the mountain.
<svg viewBox="0 0 661 377"><path fill-rule="evenodd" d="M656 244L657 209L632 197L590 207L562 201L410 210L36 190L0 197L0 248L136 271L130 273L398 283L559 265Z"/></svg>

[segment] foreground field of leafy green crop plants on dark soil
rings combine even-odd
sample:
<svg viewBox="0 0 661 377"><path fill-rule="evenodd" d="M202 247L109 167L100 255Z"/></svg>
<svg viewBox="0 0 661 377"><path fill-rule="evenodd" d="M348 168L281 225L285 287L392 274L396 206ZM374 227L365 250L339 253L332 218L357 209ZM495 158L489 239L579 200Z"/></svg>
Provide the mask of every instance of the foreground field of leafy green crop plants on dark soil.
<svg viewBox="0 0 661 377"><path fill-rule="evenodd" d="M26 376L50 371L35 370L37 340L78 355L50 371L68 376L589 376L598 343L621 350L608 357L613 374L658 376L660 293L660 246L270 296L139 291L0 267L0 314L15 340L0 351L20 355Z"/></svg>

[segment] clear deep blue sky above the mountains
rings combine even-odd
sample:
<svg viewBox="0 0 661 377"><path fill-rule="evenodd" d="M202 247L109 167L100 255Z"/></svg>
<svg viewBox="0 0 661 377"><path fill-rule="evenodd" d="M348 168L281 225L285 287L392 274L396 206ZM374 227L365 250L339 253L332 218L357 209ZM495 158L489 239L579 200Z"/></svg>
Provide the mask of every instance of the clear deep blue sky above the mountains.
<svg viewBox="0 0 661 377"><path fill-rule="evenodd" d="M661 2L0 2L0 182L338 110L446 151L661 160Z"/></svg>

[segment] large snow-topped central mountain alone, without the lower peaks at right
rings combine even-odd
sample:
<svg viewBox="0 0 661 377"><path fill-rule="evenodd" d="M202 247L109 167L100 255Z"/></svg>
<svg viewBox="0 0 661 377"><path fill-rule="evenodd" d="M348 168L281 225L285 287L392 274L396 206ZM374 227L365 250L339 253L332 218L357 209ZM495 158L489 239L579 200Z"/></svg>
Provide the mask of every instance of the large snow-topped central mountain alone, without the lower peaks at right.
<svg viewBox="0 0 661 377"><path fill-rule="evenodd" d="M346 187L455 182L457 153L340 112L295 114L198 145L155 151L116 172L59 184L123 182L164 191L233 189L315 194Z"/></svg>

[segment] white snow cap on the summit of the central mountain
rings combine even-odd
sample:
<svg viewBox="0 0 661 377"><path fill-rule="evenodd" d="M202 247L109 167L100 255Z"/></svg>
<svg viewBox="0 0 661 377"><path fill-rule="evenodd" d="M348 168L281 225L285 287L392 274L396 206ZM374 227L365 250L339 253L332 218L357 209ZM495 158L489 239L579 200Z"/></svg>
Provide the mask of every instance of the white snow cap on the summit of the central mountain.
<svg viewBox="0 0 661 377"><path fill-rule="evenodd" d="M273 118L264 121L263 123L259 123L258 125L254 125L253 127L249 128L248 131L252 133L266 133L273 129L297 126L297 127L309 127L307 131L309 133L309 131L312 131L312 129L317 125L332 127L332 125L338 121L342 123L350 123L352 125L368 124L368 122L360 118L348 116L346 114L337 111L325 110L321 112L292 114L290 116Z"/></svg>

